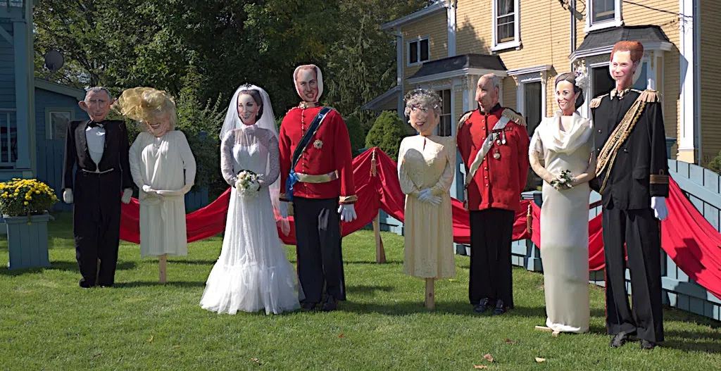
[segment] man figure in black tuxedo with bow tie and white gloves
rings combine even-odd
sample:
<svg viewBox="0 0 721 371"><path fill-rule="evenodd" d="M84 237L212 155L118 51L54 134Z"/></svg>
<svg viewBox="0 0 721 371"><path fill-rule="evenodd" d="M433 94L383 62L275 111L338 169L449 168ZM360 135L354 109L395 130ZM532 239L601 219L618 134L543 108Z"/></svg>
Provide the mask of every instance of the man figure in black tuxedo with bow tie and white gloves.
<svg viewBox="0 0 721 371"><path fill-rule="evenodd" d="M120 201L127 204L133 195L128 130L121 120L105 120L112 102L107 89L90 88L78 103L90 120L70 122L65 137L63 201L74 203L75 257L84 288L115 282Z"/></svg>

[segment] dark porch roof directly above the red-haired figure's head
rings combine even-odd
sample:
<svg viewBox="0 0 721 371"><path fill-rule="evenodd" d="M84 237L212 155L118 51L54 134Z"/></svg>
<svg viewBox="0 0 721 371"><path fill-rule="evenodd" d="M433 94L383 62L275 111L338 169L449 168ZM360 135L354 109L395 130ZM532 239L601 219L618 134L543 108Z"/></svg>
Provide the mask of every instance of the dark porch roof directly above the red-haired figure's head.
<svg viewBox="0 0 721 371"><path fill-rule="evenodd" d="M583 43L568 58L575 61L591 55L611 53L614 44L629 40L642 43L644 50L671 50L671 41L659 26L619 26L588 32Z"/></svg>

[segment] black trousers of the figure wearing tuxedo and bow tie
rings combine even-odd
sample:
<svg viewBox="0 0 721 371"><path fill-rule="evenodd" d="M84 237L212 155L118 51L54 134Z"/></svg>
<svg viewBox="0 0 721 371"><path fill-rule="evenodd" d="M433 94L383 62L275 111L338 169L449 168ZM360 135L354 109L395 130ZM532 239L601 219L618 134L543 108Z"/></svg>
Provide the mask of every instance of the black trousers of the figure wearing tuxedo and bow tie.
<svg viewBox="0 0 721 371"><path fill-rule="evenodd" d="M79 171L73 198L73 234L75 258L82 276L80 285L113 285L120 245L120 171L103 175Z"/></svg>

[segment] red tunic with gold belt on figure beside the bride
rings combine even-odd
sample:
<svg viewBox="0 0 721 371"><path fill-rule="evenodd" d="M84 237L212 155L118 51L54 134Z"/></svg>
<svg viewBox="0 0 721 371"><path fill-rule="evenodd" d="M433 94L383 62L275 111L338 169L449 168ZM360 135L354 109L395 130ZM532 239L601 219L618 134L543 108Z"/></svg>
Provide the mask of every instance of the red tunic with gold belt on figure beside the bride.
<svg viewBox="0 0 721 371"><path fill-rule="evenodd" d="M280 124L280 199L286 200L286 179L291 172L293 152L322 107L292 108ZM311 138L294 169L298 174L322 175L338 171L338 179L324 183L296 182L294 197L329 199L339 197L341 204L354 203L353 153L350 137L340 113L328 112Z"/></svg>

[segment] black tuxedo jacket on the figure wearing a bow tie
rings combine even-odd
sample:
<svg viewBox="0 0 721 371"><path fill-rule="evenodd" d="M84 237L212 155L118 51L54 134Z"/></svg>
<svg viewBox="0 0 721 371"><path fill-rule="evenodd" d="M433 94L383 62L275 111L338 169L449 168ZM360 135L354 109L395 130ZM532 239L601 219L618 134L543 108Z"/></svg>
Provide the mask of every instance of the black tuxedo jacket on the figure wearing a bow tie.
<svg viewBox="0 0 721 371"><path fill-rule="evenodd" d="M63 166L63 189L74 189L76 179L83 170L85 171L109 171L107 174L120 176L118 190L133 187L130 162L128 161L128 130L125 122L121 120L104 120L101 123L105 129L105 146L102 158L96 166L88 151L85 130L90 120L72 121L68 125L68 132L65 137L65 164ZM74 167L76 166L75 176ZM115 184L112 184L115 185ZM115 188L115 187L112 187ZM119 196L118 196L119 197Z"/></svg>

